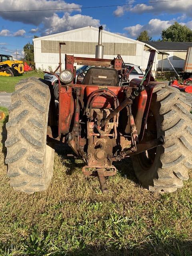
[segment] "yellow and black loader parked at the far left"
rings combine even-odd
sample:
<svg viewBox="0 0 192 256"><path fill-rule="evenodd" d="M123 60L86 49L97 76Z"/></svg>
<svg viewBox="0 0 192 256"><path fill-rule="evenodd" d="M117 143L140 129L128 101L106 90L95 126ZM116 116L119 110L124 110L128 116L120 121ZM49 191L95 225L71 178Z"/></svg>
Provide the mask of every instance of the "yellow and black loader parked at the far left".
<svg viewBox="0 0 192 256"><path fill-rule="evenodd" d="M10 55L0 54L0 76L18 76L24 72L23 62Z"/></svg>

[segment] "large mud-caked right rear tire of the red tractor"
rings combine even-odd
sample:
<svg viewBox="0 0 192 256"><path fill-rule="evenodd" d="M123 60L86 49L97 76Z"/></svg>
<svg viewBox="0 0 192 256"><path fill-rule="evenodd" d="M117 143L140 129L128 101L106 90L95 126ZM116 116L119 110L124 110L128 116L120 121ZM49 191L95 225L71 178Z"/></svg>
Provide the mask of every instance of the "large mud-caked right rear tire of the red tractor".
<svg viewBox="0 0 192 256"><path fill-rule="evenodd" d="M165 136L166 143L132 157L133 168L144 188L173 192L188 180L192 168L192 114L179 90L158 85L154 88L145 137Z"/></svg>

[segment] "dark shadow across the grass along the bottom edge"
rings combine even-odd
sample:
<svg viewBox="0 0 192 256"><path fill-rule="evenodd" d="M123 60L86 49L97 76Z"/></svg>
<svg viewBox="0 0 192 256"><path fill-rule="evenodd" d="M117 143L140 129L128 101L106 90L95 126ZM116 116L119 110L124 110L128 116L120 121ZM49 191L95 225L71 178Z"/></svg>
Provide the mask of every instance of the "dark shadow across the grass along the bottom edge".
<svg viewBox="0 0 192 256"><path fill-rule="evenodd" d="M48 241L47 241L48 242ZM39 244L35 240L25 242L21 246L16 246L16 252L19 254L11 254L12 250L9 250L10 254L7 253L8 247L2 245L1 255L52 255L52 256L191 256L192 255L192 241L189 240L177 240L168 239L164 242L158 242L152 240L148 243L142 243L139 246L127 245L126 248L117 249L115 247L100 246L86 246L84 242L79 244L79 249L64 249L65 245L55 245L50 250L46 245L45 240L42 240ZM66 247L68 247L66 245ZM54 248L54 249L53 249ZM14 250L13 250L14 251Z"/></svg>

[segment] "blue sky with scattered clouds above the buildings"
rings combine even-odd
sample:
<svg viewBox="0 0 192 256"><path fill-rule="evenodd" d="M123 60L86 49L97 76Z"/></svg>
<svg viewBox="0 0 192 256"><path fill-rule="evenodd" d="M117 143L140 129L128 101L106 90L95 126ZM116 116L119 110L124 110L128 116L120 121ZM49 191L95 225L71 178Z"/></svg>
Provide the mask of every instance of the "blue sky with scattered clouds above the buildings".
<svg viewBox="0 0 192 256"><path fill-rule="evenodd" d="M104 30L132 39L147 30L155 40L174 22L192 29L192 0L0 0L0 6L0 54L15 57L17 50L19 58L34 35L85 26L103 25ZM93 6L108 7L86 8ZM68 10L53 10L64 8Z"/></svg>

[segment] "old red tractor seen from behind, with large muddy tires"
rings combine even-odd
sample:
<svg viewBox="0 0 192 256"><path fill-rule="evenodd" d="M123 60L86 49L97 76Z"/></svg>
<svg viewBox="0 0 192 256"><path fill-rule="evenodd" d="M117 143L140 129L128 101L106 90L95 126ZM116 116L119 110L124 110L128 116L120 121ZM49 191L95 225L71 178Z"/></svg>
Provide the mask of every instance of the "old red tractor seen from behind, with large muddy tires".
<svg viewBox="0 0 192 256"><path fill-rule="evenodd" d="M155 82L154 51L143 80L129 82L120 55L103 59L101 32L96 58L66 55L65 70L60 61L54 90L37 78L16 85L5 142L7 175L15 190L33 193L48 187L54 141L67 143L84 160L82 172L98 176L103 193L108 192L106 177L117 172L113 163L129 157L136 177L149 190L173 192L188 180L190 104L179 90ZM78 80L75 64L93 67Z"/></svg>

